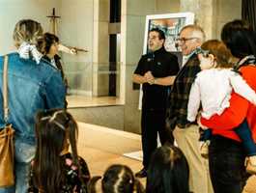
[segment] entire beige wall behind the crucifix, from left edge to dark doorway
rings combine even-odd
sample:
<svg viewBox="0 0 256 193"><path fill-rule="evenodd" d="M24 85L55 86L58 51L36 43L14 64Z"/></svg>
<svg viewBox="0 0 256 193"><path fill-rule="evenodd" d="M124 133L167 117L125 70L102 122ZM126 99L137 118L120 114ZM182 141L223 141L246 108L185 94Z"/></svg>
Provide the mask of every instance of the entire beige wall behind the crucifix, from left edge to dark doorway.
<svg viewBox="0 0 256 193"><path fill-rule="evenodd" d="M1 0L0 1L0 55L14 50L14 24L22 18L32 18L50 30L46 15L56 9L58 36L67 45L88 49L77 56L62 54L64 69L68 73L71 88L79 94L92 95L93 67L93 0ZM7 19L8 18L8 19ZM98 37L96 37L98 38Z"/></svg>

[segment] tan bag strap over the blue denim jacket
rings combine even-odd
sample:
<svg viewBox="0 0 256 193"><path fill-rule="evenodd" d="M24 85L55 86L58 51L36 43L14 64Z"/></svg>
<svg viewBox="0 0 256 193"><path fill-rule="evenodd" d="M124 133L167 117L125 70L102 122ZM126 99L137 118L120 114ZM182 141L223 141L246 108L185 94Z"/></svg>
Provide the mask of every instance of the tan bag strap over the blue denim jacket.
<svg viewBox="0 0 256 193"><path fill-rule="evenodd" d="M8 122L8 114L9 114L9 107L8 107L8 56L4 56L4 69L3 69L3 99L4 99L4 120L7 124Z"/></svg>

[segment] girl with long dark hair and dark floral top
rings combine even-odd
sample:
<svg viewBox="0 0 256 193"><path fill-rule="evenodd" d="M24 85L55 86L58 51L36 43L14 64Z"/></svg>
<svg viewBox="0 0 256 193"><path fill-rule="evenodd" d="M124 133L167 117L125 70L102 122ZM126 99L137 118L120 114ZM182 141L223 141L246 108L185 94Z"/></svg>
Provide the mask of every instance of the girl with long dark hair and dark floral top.
<svg viewBox="0 0 256 193"><path fill-rule="evenodd" d="M66 110L38 113L36 156L31 163L28 192L87 192L90 173L77 154L77 135L77 124Z"/></svg>

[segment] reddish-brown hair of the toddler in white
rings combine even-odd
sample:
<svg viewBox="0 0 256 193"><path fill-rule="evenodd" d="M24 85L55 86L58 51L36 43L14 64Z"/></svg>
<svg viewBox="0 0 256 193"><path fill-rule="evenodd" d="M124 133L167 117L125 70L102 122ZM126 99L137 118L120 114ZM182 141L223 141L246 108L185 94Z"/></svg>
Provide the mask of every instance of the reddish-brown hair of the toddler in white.
<svg viewBox="0 0 256 193"><path fill-rule="evenodd" d="M209 54L213 54L216 62L215 68L229 69L234 66L234 57L222 41L205 41L201 45L201 48L203 50L208 50Z"/></svg>

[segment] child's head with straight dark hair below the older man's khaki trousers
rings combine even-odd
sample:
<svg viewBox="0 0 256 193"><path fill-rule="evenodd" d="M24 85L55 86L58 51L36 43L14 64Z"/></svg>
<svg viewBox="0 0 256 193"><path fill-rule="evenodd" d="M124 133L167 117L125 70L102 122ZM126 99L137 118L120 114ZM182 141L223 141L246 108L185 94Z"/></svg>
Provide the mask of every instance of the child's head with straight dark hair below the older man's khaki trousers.
<svg viewBox="0 0 256 193"><path fill-rule="evenodd" d="M164 145L153 153L147 175L147 193L188 193L189 169L184 153Z"/></svg>

